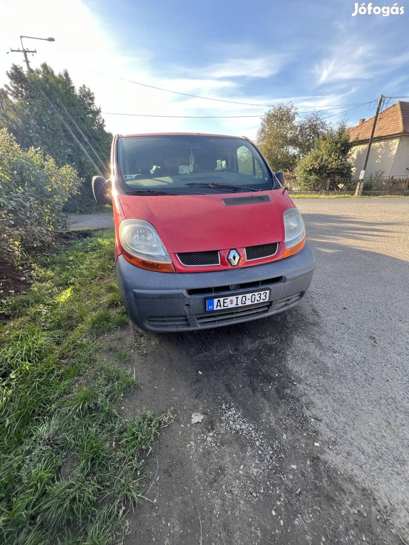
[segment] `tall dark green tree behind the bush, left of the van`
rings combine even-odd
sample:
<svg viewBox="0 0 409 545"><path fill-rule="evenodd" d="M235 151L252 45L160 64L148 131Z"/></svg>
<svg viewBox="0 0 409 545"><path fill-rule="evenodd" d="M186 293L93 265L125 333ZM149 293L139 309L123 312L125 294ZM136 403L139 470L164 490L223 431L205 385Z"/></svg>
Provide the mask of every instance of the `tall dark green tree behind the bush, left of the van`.
<svg viewBox="0 0 409 545"><path fill-rule="evenodd" d="M93 93L76 90L67 70L56 74L47 64L28 72L13 64L7 75L0 125L22 148L39 147L57 166L73 166L84 181L68 209L86 211L94 202L90 178L107 172L112 139Z"/></svg>

